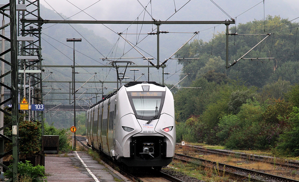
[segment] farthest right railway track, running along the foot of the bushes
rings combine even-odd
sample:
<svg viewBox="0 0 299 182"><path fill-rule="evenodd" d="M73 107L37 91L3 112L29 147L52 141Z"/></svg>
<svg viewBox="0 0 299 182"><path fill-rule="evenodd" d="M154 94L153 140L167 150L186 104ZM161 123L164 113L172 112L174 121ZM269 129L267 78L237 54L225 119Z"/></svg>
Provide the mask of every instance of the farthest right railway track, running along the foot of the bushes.
<svg viewBox="0 0 299 182"><path fill-rule="evenodd" d="M176 144L176 145L181 147L181 145L179 145L179 144ZM281 158L277 158L277 157L274 158L274 157L260 156L260 155L254 155L254 154L244 154L241 152L233 152L233 151L217 150L217 149L207 149L204 147L199 147L199 146L195 146L195 145L187 145L187 144L185 144L185 146L193 147L196 150L204 152L204 153L235 156L235 157L239 157L242 159L266 162L266 163L270 163L273 165L280 165L280 166L292 168L292 169L299 169L299 162L289 161L289 160L285 160L285 159L281 159ZM275 161L274 161L274 159L275 159Z"/></svg>

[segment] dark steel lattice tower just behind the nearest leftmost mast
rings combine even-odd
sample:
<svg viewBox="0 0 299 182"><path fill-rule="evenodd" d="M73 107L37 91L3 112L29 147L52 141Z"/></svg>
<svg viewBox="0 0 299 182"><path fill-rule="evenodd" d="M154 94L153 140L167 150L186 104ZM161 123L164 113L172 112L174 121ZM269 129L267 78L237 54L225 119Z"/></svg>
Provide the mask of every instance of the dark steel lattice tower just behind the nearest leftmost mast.
<svg viewBox="0 0 299 182"><path fill-rule="evenodd" d="M33 41L30 42L19 42L18 43L18 53L22 56L19 59L18 67L19 70L29 70L20 71L18 74L19 84L22 87L20 89L21 97L24 96L28 98L30 104L43 104L42 100L42 54L41 54L41 22L36 22L40 20L40 8L39 0L18 0L19 4L26 4L26 11L19 11L18 14L18 36L26 37L28 39L32 38ZM29 22L21 22L21 19L30 19ZM32 58L30 58L31 56ZM26 85L28 87L26 88ZM42 126L42 135L44 134L44 116L43 111L30 112L28 111L28 120L33 122L39 121Z"/></svg>

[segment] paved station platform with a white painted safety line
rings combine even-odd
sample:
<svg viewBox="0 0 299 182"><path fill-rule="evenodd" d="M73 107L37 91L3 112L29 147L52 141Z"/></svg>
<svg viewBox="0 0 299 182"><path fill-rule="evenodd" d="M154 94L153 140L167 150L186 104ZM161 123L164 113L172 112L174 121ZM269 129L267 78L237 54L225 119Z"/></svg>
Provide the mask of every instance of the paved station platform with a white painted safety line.
<svg viewBox="0 0 299 182"><path fill-rule="evenodd" d="M93 160L86 152L47 154L45 176L48 182L130 181L103 161Z"/></svg>

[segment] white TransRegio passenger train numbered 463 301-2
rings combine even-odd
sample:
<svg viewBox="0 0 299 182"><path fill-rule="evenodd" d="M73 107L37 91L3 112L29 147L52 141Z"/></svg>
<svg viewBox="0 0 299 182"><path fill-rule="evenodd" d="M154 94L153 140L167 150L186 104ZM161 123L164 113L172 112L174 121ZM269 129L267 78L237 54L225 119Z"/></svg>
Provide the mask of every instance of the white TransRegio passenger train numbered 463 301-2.
<svg viewBox="0 0 299 182"><path fill-rule="evenodd" d="M173 95L155 82L130 82L87 111L88 145L126 166L159 169L173 159Z"/></svg>

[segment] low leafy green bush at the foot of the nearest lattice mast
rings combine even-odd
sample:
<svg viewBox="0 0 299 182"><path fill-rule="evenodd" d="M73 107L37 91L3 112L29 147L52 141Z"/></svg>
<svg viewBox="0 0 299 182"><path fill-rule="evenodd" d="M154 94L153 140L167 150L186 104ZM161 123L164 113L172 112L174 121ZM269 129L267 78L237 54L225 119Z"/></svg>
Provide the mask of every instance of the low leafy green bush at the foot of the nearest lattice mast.
<svg viewBox="0 0 299 182"><path fill-rule="evenodd" d="M45 167L44 166L33 166L29 163L30 161L26 160L26 163L19 162L18 163L18 178L22 178L23 176L29 176L32 179L32 182L43 182L44 179L47 179L45 177ZM10 164L8 166L10 169L13 168L13 165ZM4 175L7 178L12 178L13 173L7 170L4 172ZM45 180L47 181L47 180Z"/></svg>

